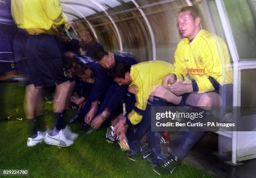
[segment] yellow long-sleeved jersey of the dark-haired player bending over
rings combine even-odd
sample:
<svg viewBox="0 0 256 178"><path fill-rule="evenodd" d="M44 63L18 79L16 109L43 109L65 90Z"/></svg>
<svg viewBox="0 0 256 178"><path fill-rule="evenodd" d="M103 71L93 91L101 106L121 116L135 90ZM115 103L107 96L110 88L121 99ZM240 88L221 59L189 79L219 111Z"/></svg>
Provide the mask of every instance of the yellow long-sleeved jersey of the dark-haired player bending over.
<svg viewBox="0 0 256 178"><path fill-rule="evenodd" d="M146 110L149 95L162 85L163 78L169 73L173 73L174 66L161 60L138 63L131 66L132 85L136 85L138 93L136 94L135 106L139 110ZM128 114L128 119L133 125L141 122L142 115L135 110Z"/></svg>

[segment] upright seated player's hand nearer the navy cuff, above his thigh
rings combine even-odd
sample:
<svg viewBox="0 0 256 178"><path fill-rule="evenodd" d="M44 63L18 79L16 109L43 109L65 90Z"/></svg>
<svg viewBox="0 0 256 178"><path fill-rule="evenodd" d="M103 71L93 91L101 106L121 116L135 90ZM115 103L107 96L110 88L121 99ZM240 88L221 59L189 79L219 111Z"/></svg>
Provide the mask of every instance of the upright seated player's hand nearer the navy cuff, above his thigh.
<svg viewBox="0 0 256 178"><path fill-rule="evenodd" d="M177 96L193 92L192 84L174 83L168 86L168 88Z"/></svg>

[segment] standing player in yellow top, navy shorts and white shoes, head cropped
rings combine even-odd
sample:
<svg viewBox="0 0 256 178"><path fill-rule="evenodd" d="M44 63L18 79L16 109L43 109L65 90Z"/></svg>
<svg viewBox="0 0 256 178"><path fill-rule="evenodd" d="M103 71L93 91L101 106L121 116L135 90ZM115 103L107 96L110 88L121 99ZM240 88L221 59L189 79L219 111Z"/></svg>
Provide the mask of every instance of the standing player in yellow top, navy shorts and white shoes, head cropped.
<svg viewBox="0 0 256 178"><path fill-rule="evenodd" d="M59 0L12 0L11 12L19 28L14 40L14 52L15 59L22 62L17 68L28 79L24 99L27 145L33 146L43 140L51 145L72 145L74 142L67 140L61 130L70 82L54 36L56 29L67 23L67 16L62 13ZM45 135L38 131L43 104L38 101L41 100L42 88L53 85L56 85L53 118L58 121L56 127Z"/></svg>

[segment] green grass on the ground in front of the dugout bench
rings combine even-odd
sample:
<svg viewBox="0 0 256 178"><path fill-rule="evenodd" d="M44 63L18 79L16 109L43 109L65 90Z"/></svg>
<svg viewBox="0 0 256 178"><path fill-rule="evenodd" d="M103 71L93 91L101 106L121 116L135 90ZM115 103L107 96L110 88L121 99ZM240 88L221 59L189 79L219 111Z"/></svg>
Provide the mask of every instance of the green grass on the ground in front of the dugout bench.
<svg viewBox="0 0 256 178"><path fill-rule="evenodd" d="M5 83L0 83L3 89ZM15 98L15 108L20 108L20 115L23 115L22 103L24 88L16 88L16 92L8 90L7 93ZM5 95L6 98L7 95ZM3 101L3 96L2 96ZM3 105L8 105L10 100L5 100ZM2 107L3 108L3 107ZM5 107L6 108L6 107ZM15 108L7 108L10 113ZM51 105L46 104L49 112L46 120L50 120ZM69 112L68 118L75 112ZM72 125L75 128L77 125ZM134 162L129 160L120 148L114 148L111 143L104 139L105 129L97 130L91 134L79 135L74 145L66 148L58 148L44 143L33 148L26 146L26 120L11 119L0 121L0 169L28 169L29 177L102 177L102 178L148 178L160 177L153 168L147 165L147 161ZM163 176L164 177L164 176ZM210 178L211 176L202 170L182 164L172 175L172 178Z"/></svg>

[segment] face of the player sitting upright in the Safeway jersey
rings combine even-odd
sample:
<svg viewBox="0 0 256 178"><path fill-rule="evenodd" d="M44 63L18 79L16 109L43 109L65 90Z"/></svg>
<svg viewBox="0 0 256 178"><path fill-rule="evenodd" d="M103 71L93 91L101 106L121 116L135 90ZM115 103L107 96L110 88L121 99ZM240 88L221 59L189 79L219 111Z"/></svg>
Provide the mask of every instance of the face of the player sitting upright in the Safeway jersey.
<svg viewBox="0 0 256 178"><path fill-rule="evenodd" d="M192 40L200 30L200 18L194 19L189 11L180 13L177 18L179 30L184 38ZM199 29L199 30L198 30Z"/></svg>

